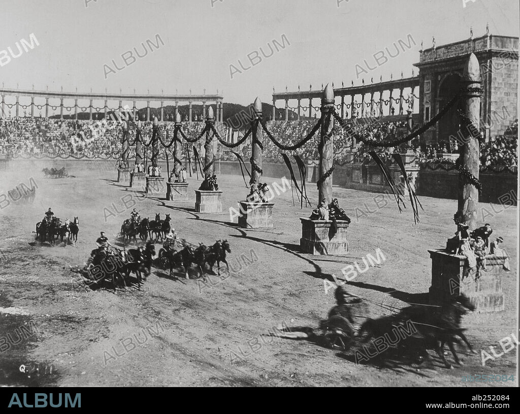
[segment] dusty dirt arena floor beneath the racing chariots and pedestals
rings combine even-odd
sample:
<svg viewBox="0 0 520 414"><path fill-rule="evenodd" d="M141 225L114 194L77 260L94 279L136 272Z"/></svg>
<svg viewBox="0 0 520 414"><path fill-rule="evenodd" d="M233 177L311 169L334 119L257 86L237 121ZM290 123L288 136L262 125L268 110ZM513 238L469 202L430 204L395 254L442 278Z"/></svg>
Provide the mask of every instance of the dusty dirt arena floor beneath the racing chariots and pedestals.
<svg viewBox="0 0 520 414"><path fill-rule="evenodd" d="M51 166L51 165L49 165ZM453 235L454 200L420 198L424 212L414 225L410 209L399 214L395 201L376 210L373 193L334 187L334 196L352 218L346 256L301 254L301 224L311 209L293 206L291 191L274 199L275 228L243 230L230 224L247 190L238 176L219 176L224 213L194 212L197 181L189 179L189 202L144 198L115 182L113 170L70 170L74 177L44 178L39 171L0 172L7 192L33 177L33 204L11 203L0 211L0 384L57 386L513 386L517 384L517 349L486 361L480 351L497 354L499 341L517 334L516 209L495 205L486 217L493 235L505 239L511 271L503 276L505 311L470 313L467 337L478 355L456 345L464 362L450 370L433 351L421 366L381 368L356 364L340 353L306 340L269 336L273 327L316 328L335 304L324 280L376 249L385 261L348 283L371 301L373 314L389 311L375 303L404 307L424 303L431 284L428 249L444 247ZM265 178L267 183L279 178ZM316 202L317 190L308 185ZM124 203L126 202L126 207ZM75 247L34 242L36 222L51 207L61 219L78 216ZM69 266L83 264L101 230L114 243L132 208L153 219L169 213L179 237L191 243L231 245L230 273L200 280L170 278L152 268L140 291L136 287L91 290L73 282ZM489 204L482 207L490 210ZM105 210L108 209L108 210ZM357 210L356 208L360 209ZM367 211L371 213L368 213ZM117 211L117 212L116 212ZM364 214L360 217L360 211ZM108 215L108 217L107 217ZM479 215L480 216L480 215ZM237 222L237 219L235 219ZM484 223L484 222L483 222ZM157 251L160 245L157 246ZM180 274L179 274L180 275ZM109 286L108 286L109 287ZM24 327L20 331L20 328ZM20 338L19 333L24 332ZM516 335L517 337L517 335ZM451 354L446 356L452 361ZM40 364L40 376L20 372ZM45 370L45 366L53 367ZM47 372L45 372L47 371ZM515 381L467 383L476 374L515 375ZM30 378L29 378L30 377Z"/></svg>

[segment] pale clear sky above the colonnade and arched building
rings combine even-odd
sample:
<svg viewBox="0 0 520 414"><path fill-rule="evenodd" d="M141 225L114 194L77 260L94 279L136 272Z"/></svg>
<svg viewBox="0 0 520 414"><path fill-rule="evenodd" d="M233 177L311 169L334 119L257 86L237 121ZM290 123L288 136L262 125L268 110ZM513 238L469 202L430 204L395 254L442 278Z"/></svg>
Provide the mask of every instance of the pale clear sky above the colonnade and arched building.
<svg viewBox="0 0 520 414"><path fill-rule="evenodd" d="M424 48L486 33L518 36L518 0L0 0L0 59L16 42L39 45L0 67L5 87L74 92L224 95L247 105L277 92L410 76ZM156 37L159 35L161 44ZM284 36L284 38L282 37ZM413 39L413 42L411 42ZM134 47L128 66L121 55ZM277 45L274 42L278 42ZM373 55L411 45L373 70ZM413 44L415 43L415 45ZM272 47L273 53L271 55ZM262 54L264 51L265 57ZM152 50L152 51L151 51ZM253 59L254 66L248 59ZM254 56L259 55L259 58ZM9 55L10 56L10 55ZM128 54L126 56L129 56ZM259 60L260 59L260 60ZM114 68L115 65L119 69ZM239 60L243 68L240 66ZM2 60L0 60L2 61ZM107 65L107 66L105 66ZM233 65L233 67L230 67ZM111 69L108 69L110 67ZM357 69L356 69L357 68ZM233 73L232 73L233 72ZM415 68L415 73L418 70ZM29 98L25 98L29 100ZM23 100L20 100L24 103ZM27 102L25 102L27 103ZM101 106L94 103L94 106ZM67 105L67 103L66 103ZM69 103L69 105L71 105ZM81 103L80 103L81 105ZM86 105L86 102L83 104ZM166 105L166 103L165 103ZM142 107L145 105L138 105Z"/></svg>

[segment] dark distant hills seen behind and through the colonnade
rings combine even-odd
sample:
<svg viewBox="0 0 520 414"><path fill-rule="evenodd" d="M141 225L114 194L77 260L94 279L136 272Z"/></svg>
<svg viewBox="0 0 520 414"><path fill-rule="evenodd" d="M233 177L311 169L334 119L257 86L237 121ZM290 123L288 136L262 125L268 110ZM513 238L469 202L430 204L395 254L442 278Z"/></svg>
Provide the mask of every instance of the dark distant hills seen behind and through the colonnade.
<svg viewBox="0 0 520 414"><path fill-rule="evenodd" d="M224 102L224 116L223 122L229 127L235 130L242 130L244 127L249 127L251 121L252 105L243 106L239 103L227 103ZM206 110L209 106L206 106ZM192 116L195 121L202 120L202 105L192 105ZM213 105L213 111L215 111L215 105ZM262 112L264 114L264 120L271 121L272 119L272 105L270 103L262 103ZM146 119L146 108L140 108L137 110L139 118L141 120ZM189 105L179 105L179 113L181 119L184 121L185 117L189 113ZM107 112L108 117L113 114L113 111ZM161 108L150 108L150 118L160 117ZM105 117L104 112L92 112L93 120L101 120ZM59 119L60 115L52 115L52 119ZM88 112L78 112L77 119L86 121L89 118ZM169 121L175 119L175 106L168 105L164 107L164 118ZM284 108L277 108L276 113L277 120L284 119ZM63 119L74 119L74 114L63 114ZM296 113L289 110L289 119L296 119ZM301 117L302 120L308 119L307 117Z"/></svg>

